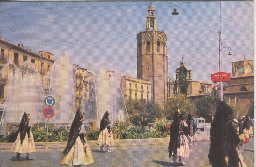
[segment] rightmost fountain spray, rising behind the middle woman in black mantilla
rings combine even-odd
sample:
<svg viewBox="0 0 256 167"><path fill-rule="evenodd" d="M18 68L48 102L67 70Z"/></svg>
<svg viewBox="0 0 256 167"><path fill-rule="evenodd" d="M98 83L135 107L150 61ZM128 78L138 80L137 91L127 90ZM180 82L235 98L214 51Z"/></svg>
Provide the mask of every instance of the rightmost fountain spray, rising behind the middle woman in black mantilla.
<svg viewBox="0 0 256 167"><path fill-rule="evenodd" d="M123 94L120 88L121 76L114 71L104 69L100 61L100 70L95 74L92 63L88 63L88 74L85 81L89 87L89 98L84 91L82 111L85 113L85 123L96 122L97 128L100 127L100 119L108 110L110 120L114 122L117 118L127 118L127 110L124 103Z"/></svg>

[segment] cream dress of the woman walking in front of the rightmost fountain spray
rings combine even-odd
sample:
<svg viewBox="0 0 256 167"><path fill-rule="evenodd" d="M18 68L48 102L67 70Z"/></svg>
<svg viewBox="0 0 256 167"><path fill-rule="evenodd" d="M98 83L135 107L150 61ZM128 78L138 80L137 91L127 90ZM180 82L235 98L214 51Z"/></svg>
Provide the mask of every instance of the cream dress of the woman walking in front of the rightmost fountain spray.
<svg viewBox="0 0 256 167"><path fill-rule="evenodd" d="M99 134L99 138L98 138L98 142L97 142L97 145L113 145L115 142L114 142L114 138L113 138L113 135L110 135L110 120L102 120L102 121L105 121L105 128L100 131L100 134Z"/></svg>

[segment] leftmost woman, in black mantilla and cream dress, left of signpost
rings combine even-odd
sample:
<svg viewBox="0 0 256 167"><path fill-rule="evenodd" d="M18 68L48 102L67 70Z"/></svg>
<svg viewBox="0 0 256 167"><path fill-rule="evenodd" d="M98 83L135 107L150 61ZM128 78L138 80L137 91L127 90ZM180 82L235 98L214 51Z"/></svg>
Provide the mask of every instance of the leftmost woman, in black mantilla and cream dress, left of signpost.
<svg viewBox="0 0 256 167"><path fill-rule="evenodd" d="M19 130L18 137L14 142L11 151L17 153L17 159L20 160L21 153L27 153L26 160L33 160L29 158L29 153L36 152L33 134L31 132L31 124L29 122L30 114L24 112Z"/></svg>

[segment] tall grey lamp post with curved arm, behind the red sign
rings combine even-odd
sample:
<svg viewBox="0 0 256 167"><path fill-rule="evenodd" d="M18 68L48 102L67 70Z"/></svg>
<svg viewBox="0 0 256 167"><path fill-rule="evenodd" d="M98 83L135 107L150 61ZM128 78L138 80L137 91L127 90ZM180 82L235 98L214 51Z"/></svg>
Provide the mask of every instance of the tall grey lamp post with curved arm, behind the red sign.
<svg viewBox="0 0 256 167"><path fill-rule="evenodd" d="M222 32L220 31L220 27L219 27L219 30L217 31L217 33L219 33L219 66L220 66L220 72L222 72L222 57L221 57L222 49L229 48L228 55L232 55L232 54L230 54L230 50L231 50L230 47L224 46L223 48L221 48L220 35L222 34ZM224 99L223 99L223 83L222 83L222 81L220 81L220 101L224 101Z"/></svg>

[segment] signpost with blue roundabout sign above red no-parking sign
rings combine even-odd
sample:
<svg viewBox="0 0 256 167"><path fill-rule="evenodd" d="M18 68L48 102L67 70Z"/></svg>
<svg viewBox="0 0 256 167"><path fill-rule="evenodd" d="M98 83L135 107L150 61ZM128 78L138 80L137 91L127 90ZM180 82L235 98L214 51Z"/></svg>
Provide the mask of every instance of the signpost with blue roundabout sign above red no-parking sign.
<svg viewBox="0 0 256 167"><path fill-rule="evenodd" d="M48 149L48 121L54 116L54 110L52 106L55 104L55 99L52 96L44 98L44 104L48 107L44 108L44 117L47 119L47 132L46 132L46 145L45 149Z"/></svg>

